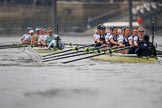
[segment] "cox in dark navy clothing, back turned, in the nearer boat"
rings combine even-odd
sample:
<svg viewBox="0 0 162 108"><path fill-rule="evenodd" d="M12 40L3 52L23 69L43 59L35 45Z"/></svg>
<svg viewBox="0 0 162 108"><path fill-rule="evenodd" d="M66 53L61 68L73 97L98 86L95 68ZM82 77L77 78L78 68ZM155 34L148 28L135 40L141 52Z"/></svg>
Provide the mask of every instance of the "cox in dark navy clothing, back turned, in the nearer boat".
<svg viewBox="0 0 162 108"><path fill-rule="evenodd" d="M143 36L143 41L136 49L135 53L138 57L157 57L155 46L149 42L149 35Z"/></svg>

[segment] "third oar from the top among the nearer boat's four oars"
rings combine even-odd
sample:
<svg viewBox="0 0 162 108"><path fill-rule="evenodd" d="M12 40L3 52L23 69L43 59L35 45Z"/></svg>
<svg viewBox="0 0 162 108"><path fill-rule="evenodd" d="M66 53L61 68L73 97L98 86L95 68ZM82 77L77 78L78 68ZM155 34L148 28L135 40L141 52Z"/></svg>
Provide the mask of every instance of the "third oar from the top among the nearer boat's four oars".
<svg viewBox="0 0 162 108"><path fill-rule="evenodd" d="M75 56L80 56L80 55L92 54L92 53L100 53L102 51L101 48L103 48L103 47L107 47L107 46L102 46L102 47L87 49L87 50L84 49L84 50L81 50L78 52L72 52L73 55L69 55L69 56L66 55L66 56L58 57L58 58L49 57L49 58L43 59L43 62L52 61L52 60L60 60L60 59L65 59L65 58L70 58L70 57L75 57ZM75 53L79 53L79 52L85 52L85 53L75 54ZM52 58L52 59L50 59L50 58Z"/></svg>

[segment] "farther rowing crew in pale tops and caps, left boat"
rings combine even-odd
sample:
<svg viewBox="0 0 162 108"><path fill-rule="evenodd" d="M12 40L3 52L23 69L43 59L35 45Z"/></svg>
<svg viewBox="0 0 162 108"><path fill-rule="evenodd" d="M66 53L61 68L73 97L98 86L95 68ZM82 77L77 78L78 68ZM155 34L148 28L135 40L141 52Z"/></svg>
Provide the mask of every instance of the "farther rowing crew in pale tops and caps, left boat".
<svg viewBox="0 0 162 108"><path fill-rule="evenodd" d="M31 28L27 28L27 32L23 34L21 38L22 44L31 44L35 46L43 46L48 49L63 49L64 43L60 36L53 34L52 28L47 29L42 27L36 27L35 31Z"/></svg>

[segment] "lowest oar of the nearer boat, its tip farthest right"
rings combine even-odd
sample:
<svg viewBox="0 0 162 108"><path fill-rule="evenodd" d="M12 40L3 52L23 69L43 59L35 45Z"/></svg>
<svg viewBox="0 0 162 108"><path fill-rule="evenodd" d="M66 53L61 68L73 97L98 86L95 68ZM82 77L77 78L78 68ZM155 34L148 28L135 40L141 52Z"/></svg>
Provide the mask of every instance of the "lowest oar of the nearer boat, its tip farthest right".
<svg viewBox="0 0 162 108"><path fill-rule="evenodd" d="M62 62L63 64L66 64L66 63L70 63L70 62L74 62L74 61L79 61L79 60L83 60L83 59L87 59L87 58L92 58L92 57L96 57L96 56L100 56L100 55L104 55L104 54L111 54L113 52L116 52L116 51L121 51L121 50L125 50L125 49L129 49L131 46L128 46L128 47L124 47L124 48L118 48L118 49L115 49L115 50L107 50L105 52L102 52L102 53L99 53L99 54L94 54L94 55L90 55L90 56L87 56L87 57L82 57L82 58L78 58L78 59L74 59L74 60L70 60L70 61L66 61L66 62Z"/></svg>

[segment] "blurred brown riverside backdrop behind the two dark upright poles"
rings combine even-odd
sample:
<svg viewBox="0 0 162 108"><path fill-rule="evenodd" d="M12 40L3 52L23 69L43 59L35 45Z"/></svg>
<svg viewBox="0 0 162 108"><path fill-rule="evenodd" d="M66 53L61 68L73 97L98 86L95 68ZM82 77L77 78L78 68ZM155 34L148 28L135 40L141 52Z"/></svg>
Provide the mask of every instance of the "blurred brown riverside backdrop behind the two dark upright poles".
<svg viewBox="0 0 162 108"><path fill-rule="evenodd" d="M133 21L150 29L162 28L161 0L132 0ZM26 27L48 27L53 24L52 0L0 0L0 33L18 34ZM57 23L60 33L85 32L104 22L127 22L127 0L58 0Z"/></svg>

